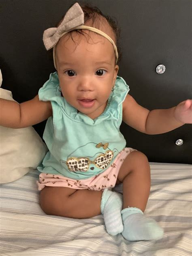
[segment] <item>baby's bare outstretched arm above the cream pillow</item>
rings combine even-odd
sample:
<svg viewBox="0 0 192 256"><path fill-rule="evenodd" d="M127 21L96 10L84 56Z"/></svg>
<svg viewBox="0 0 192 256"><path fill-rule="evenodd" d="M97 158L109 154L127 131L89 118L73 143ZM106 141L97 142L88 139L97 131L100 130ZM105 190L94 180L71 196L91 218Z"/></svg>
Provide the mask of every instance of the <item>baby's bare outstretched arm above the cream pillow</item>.
<svg viewBox="0 0 192 256"><path fill-rule="evenodd" d="M0 99L0 125L9 128L25 128L49 118L52 115L50 101L40 101L38 95L30 101L17 103Z"/></svg>

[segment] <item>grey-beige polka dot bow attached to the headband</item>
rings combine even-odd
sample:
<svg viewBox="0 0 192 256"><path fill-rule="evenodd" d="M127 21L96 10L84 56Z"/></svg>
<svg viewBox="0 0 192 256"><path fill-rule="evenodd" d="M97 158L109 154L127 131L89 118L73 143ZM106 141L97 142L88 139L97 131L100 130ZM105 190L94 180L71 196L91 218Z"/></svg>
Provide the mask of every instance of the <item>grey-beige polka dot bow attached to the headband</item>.
<svg viewBox="0 0 192 256"><path fill-rule="evenodd" d="M67 12L58 28L48 28L43 33L43 43L47 50L55 46L64 32L74 30L84 24L84 13L81 6L75 3Z"/></svg>

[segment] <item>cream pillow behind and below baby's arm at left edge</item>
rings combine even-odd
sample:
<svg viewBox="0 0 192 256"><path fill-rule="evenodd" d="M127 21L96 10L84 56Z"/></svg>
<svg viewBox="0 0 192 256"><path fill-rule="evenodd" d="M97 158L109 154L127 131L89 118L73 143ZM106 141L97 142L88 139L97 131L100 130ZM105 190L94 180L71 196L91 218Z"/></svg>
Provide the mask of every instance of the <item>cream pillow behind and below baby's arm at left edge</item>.
<svg viewBox="0 0 192 256"><path fill-rule="evenodd" d="M11 91L2 88L0 98L14 101ZM47 146L33 127L12 129L0 126L0 183L15 181L30 168L35 169L47 151Z"/></svg>

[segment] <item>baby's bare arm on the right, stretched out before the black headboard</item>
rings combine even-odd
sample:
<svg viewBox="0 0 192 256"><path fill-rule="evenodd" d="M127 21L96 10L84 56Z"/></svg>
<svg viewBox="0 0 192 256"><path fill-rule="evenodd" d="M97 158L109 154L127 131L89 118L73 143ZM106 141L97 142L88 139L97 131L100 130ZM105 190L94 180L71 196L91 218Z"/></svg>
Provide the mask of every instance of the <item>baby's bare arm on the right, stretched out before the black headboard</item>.
<svg viewBox="0 0 192 256"><path fill-rule="evenodd" d="M177 107L169 109L157 109L149 111L148 109L137 104L132 96L127 95L125 101L123 102L123 121L137 131L141 131L143 133L166 133L184 125L184 123L180 121L180 117L176 118L176 116L183 115L180 109L179 115L176 115L179 104ZM189 115L190 113L188 116Z"/></svg>

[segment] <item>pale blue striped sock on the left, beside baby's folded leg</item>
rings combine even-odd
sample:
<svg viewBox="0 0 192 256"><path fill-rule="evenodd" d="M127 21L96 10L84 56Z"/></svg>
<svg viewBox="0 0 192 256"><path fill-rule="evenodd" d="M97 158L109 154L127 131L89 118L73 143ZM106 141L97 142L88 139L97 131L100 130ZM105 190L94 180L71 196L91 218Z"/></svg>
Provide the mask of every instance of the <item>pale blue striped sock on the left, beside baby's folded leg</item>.
<svg viewBox="0 0 192 256"><path fill-rule="evenodd" d="M101 213L104 217L107 233L112 236L123 231L122 208L122 194L105 189L101 198Z"/></svg>

